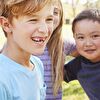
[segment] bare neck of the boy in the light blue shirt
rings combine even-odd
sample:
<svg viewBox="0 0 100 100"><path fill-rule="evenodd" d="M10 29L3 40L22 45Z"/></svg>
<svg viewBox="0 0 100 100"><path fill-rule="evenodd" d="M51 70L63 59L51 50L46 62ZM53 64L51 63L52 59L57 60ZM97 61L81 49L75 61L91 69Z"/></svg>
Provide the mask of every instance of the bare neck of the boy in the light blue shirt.
<svg viewBox="0 0 100 100"><path fill-rule="evenodd" d="M33 64L30 62L30 54L27 52L16 50L16 48L8 46L6 44L3 48L2 54L12 59L16 63L23 65L24 67L27 67L29 69L33 68Z"/></svg>

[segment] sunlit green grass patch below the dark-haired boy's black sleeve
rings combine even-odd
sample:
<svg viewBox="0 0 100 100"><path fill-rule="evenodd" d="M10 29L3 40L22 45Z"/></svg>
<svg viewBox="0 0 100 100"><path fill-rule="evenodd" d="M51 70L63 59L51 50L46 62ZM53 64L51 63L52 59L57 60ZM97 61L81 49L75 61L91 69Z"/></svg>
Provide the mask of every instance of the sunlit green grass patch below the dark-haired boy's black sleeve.
<svg viewBox="0 0 100 100"><path fill-rule="evenodd" d="M78 81L62 83L63 99L62 100L89 100Z"/></svg>

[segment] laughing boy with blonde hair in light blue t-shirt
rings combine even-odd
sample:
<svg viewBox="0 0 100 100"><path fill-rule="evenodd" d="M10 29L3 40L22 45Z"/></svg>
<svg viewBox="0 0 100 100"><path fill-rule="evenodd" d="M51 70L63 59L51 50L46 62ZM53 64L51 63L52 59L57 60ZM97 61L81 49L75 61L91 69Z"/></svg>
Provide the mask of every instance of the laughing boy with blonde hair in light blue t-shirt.
<svg viewBox="0 0 100 100"><path fill-rule="evenodd" d="M52 0L4 0L0 24L0 100L44 100L41 54L53 32ZM45 12L45 13L44 13Z"/></svg>

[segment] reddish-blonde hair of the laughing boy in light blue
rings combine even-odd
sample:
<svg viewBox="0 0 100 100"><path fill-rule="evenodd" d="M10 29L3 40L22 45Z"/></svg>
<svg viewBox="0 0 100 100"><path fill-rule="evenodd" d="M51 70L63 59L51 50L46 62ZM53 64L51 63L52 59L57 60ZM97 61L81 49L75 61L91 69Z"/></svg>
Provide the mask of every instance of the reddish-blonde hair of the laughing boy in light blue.
<svg viewBox="0 0 100 100"><path fill-rule="evenodd" d="M10 23L12 19L20 16L32 16L45 5L52 4L53 0L2 0L0 2L1 16L6 17ZM5 36L7 37L6 32Z"/></svg>

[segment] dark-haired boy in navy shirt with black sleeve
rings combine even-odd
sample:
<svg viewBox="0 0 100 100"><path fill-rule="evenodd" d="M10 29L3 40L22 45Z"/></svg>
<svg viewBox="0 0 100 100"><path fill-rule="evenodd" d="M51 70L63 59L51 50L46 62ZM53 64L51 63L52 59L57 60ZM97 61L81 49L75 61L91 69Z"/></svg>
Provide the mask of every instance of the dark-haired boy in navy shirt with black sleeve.
<svg viewBox="0 0 100 100"><path fill-rule="evenodd" d="M64 80L78 79L90 100L100 100L100 10L82 11L72 31L80 56L64 66Z"/></svg>

